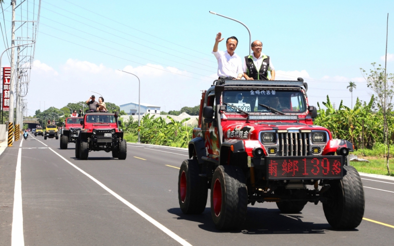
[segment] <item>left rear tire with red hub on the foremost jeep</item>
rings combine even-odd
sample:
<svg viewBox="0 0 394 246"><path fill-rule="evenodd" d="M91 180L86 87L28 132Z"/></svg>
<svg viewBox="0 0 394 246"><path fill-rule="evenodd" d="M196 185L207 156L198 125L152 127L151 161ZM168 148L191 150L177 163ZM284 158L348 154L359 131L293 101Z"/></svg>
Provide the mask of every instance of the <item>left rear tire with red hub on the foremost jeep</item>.
<svg viewBox="0 0 394 246"><path fill-rule="evenodd" d="M186 214L202 213L207 206L208 180L198 174L197 160L184 160L178 175L178 201Z"/></svg>

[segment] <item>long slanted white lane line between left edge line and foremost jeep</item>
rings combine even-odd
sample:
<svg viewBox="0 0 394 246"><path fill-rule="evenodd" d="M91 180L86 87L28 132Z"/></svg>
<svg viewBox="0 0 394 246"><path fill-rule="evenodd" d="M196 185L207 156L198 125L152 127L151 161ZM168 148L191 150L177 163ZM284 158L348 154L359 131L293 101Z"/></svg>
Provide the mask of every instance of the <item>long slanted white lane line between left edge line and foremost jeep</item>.
<svg viewBox="0 0 394 246"><path fill-rule="evenodd" d="M169 230L167 227L164 227L163 225L161 225L160 223L158 223L156 220L154 220L152 217L150 217L149 215L147 215L146 213L144 213L143 211L141 211L139 208L137 208L136 206L134 206L133 204L129 203L127 200L125 200L123 197L119 196L117 193L115 193L114 191L112 191L111 189L109 189L108 187L106 187L105 185L103 185L100 181L98 181L97 179L95 179L94 177L92 177L90 174L88 174L87 172L85 172L84 170L80 169L79 167L77 167L76 165L74 165L73 163L71 163L70 161L68 161L66 158L64 158L63 156L61 156L58 152L52 150L51 148L48 148L49 150L53 151L55 154L59 155L59 157L63 160L65 160L68 164L70 164L71 166L73 166L74 168L76 168L77 170L79 170L80 172L82 172L83 174L85 174L87 177L89 177L91 180L93 180L96 184L98 184L99 186L101 186L102 189L105 189L106 191L108 191L111 195L115 196L116 198L118 198L119 201L121 201L122 203L124 203L127 207L133 209L135 212L137 212L139 215L141 215L144 219L146 219L147 221L149 221L150 223L152 223L154 226L158 227L160 230L162 230L164 233L166 233L167 235L169 235L170 237L172 237L175 241L177 241L179 244L183 245L183 246L192 246L191 244L189 244L188 242L186 242L186 240L184 240L183 238L179 237L177 234L175 234L174 232L172 232L171 230Z"/></svg>

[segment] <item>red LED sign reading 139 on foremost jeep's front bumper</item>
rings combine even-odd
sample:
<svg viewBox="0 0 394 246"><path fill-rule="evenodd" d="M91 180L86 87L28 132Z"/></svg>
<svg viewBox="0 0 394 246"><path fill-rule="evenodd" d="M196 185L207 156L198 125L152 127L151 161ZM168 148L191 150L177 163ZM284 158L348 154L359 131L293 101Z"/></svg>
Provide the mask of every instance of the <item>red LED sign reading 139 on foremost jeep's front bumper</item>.
<svg viewBox="0 0 394 246"><path fill-rule="evenodd" d="M265 157L268 179L341 178L343 157L275 156Z"/></svg>

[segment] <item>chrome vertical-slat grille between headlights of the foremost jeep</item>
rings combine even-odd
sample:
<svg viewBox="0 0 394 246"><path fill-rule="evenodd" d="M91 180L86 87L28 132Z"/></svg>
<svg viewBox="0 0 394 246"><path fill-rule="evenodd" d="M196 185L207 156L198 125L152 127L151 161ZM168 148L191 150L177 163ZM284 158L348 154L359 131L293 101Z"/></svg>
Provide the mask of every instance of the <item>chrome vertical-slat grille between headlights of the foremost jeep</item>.
<svg viewBox="0 0 394 246"><path fill-rule="evenodd" d="M310 132L278 133L279 155L305 156L309 155L311 145Z"/></svg>

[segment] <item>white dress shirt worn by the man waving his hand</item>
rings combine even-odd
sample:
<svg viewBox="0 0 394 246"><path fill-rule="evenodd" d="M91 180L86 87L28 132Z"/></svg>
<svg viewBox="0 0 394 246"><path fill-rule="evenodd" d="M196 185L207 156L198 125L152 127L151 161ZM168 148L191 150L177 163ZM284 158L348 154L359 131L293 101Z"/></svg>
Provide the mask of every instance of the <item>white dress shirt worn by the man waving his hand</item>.
<svg viewBox="0 0 394 246"><path fill-rule="evenodd" d="M236 78L238 74L243 74L242 59L234 52L233 56L223 51L212 52L217 58L217 76Z"/></svg>

